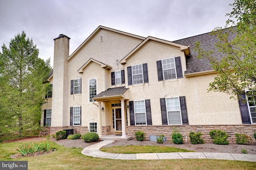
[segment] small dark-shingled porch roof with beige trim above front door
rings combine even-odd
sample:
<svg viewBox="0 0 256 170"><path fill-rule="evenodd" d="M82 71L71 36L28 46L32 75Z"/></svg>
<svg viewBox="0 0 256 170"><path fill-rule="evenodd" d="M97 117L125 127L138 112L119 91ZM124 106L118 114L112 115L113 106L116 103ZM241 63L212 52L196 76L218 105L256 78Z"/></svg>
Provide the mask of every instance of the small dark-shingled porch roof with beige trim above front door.
<svg viewBox="0 0 256 170"><path fill-rule="evenodd" d="M92 99L96 100L97 102L126 99L128 98L128 92L129 88L125 87L108 88Z"/></svg>

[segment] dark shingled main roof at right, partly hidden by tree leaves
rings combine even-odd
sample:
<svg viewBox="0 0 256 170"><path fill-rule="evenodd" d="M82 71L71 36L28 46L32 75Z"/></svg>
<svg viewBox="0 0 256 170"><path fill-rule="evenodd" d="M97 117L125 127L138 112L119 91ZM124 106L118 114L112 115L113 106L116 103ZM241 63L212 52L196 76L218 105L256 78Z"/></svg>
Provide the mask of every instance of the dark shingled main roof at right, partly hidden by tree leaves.
<svg viewBox="0 0 256 170"><path fill-rule="evenodd" d="M223 29L223 31L228 31L228 29ZM234 39L235 36L236 33L229 32L229 40ZM189 57L186 57L187 70L185 71L185 74L213 70L208 59L196 58L198 56L198 53L194 51L194 47L196 46L195 43L198 41L200 41L201 48L204 49L204 51L214 51L214 53L212 53L212 56L216 57L216 59L220 60L223 57L223 54L218 52L214 46L214 44L218 42L218 39L214 35L209 35L209 33L172 41L181 45L190 46L191 55Z"/></svg>

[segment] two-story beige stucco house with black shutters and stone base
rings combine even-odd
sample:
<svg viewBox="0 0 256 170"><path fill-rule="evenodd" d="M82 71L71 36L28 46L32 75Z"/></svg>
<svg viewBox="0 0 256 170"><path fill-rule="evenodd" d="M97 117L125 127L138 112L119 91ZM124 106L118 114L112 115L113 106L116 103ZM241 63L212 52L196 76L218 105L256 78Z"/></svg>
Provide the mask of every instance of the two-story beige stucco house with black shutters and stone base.
<svg viewBox="0 0 256 170"><path fill-rule="evenodd" d="M71 55L69 41L62 34L54 39L41 120L51 134L76 129L126 137L141 130L168 137L177 127L183 136L194 131L208 139L212 129L256 132L255 99L243 103L207 90L218 73L193 47L201 41L216 51L208 33L171 42L99 26Z"/></svg>

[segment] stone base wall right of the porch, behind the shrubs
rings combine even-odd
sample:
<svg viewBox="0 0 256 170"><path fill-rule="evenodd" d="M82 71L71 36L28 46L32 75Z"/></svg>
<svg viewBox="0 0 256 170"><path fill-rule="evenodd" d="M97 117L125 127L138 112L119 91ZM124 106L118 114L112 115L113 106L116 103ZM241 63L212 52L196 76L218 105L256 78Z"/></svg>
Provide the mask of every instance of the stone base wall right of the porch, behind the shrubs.
<svg viewBox="0 0 256 170"><path fill-rule="evenodd" d="M164 135L166 136L167 141L172 141L172 131L174 128L178 129L180 134L183 137L183 140L190 141L189 133L195 132L195 133L202 133L202 139L204 139L205 142L212 142L213 140L210 138L210 131L214 129L220 129L221 131L225 131L229 137L228 141L230 143L236 142L235 133L242 133L246 134L250 137L252 137L252 140L254 143L256 143L253 134L256 133L256 125L179 125L179 126L173 126L173 125L149 125L149 126L128 126L128 136L135 136L135 133L137 131L143 131L146 133L146 140L149 140L150 135Z"/></svg>

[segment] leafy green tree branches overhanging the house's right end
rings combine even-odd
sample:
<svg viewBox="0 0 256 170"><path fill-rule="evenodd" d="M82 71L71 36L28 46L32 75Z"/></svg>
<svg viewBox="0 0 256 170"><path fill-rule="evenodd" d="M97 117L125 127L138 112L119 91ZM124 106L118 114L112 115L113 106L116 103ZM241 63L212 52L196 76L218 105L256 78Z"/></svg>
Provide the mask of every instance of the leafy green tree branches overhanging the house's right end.
<svg viewBox="0 0 256 170"><path fill-rule="evenodd" d="M225 29L217 27L210 33L218 38L215 47L224 57L220 60L213 57L214 52L200 48L200 42L194 50L199 59L209 59L212 68L219 73L208 90L224 92L234 98L256 90L256 0L235 0L230 6L233 11L227 14L230 19ZM236 37L230 40L231 33Z"/></svg>

